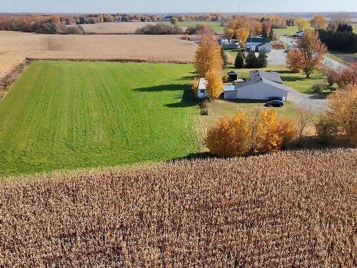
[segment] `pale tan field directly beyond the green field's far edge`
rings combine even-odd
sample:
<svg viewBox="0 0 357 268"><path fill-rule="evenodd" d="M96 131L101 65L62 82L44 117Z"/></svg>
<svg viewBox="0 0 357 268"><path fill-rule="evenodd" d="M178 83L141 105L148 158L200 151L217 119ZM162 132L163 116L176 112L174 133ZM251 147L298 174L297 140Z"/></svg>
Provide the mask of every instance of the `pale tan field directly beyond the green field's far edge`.
<svg viewBox="0 0 357 268"><path fill-rule="evenodd" d="M197 45L181 36L46 35L0 31L0 77L26 57L191 62Z"/></svg>

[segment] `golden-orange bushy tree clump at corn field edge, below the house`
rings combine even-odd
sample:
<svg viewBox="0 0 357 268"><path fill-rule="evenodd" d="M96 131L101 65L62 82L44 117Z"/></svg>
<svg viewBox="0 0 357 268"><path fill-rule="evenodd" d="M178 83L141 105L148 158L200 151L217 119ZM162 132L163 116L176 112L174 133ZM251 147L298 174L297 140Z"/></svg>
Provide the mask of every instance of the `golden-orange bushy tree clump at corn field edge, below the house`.
<svg viewBox="0 0 357 268"><path fill-rule="evenodd" d="M295 139L291 119L278 119L275 109L255 111L247 116L239 111L233 119L222 117L208 129L205 138L211 154L221 157L276 152Z"/></svg>

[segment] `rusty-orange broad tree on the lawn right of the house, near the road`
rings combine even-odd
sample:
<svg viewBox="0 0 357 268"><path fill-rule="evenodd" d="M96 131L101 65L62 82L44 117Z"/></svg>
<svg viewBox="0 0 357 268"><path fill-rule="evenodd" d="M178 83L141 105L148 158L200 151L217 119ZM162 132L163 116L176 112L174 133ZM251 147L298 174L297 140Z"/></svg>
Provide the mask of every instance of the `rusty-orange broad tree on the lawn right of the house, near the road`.
<svg viewBox="0 0 357 268"><path fill-rule="evenodd" d="M327 51L326 46L318 39L314 31L306 31L297 49L289 51L286 66L292 71L303 71L306 78L318 69Z"/></svg>

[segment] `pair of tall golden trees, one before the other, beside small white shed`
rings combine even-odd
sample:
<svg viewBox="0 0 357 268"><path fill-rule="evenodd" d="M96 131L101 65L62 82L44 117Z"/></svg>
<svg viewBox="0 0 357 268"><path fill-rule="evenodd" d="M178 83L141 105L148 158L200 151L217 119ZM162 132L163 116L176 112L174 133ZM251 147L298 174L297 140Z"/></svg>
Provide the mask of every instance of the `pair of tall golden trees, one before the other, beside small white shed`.
<svg viewBox="0 0 357 268"><path fill-rule="evenodd" d="M201 33L201 43L195 55L196 74L206 77L206 96L217 99L223 90L221 46L211 30Z"/></svg>

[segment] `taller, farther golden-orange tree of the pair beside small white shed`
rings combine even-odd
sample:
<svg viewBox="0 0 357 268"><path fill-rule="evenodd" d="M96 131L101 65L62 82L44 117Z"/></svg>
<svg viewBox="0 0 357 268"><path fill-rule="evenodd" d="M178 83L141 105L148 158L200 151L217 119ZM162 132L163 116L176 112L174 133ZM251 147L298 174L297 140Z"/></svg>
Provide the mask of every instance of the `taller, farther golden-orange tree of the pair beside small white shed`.
<svg viewBox="0 0 357 268"><path fill-rule="evenodd" d="M203 34L193 64L196 73L201 77L205 76L211 69L221 68L223 64L221 46L219 46L213 34Z"/></svg>

